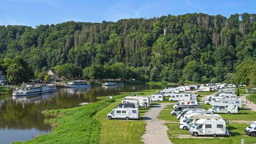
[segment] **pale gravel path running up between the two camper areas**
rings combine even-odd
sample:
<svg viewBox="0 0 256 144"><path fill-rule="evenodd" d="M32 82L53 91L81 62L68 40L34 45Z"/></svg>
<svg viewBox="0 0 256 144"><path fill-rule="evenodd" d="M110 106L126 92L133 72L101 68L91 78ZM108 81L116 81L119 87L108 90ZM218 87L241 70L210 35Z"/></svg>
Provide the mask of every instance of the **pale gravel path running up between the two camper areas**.
<svg viewBox="0 0 256 144"><path fill-rule="evenodd" d="M167 135L167 126L164 125L164 121L160 121L157 115L165 106L170 105L170 103L160 103L159 105L154 105L153 108L149 109L147 113L143 116L147 126L146 132L142 135L142 141L145 144L170 144L172 143Z"/></svg>

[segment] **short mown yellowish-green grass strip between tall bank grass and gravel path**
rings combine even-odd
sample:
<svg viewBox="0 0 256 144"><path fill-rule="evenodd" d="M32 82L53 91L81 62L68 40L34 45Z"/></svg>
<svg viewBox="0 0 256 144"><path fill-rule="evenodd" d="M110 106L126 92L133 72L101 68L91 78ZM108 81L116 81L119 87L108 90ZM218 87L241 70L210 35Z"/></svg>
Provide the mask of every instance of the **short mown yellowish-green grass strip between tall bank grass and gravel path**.
<svg viewBox="0 0 256 144"><path fill-rule="evenodd" d="M98 111L93 117L101 123L100 143L142 143L140 137L145 132L146 123L142 120L119 120L107 119L107 114L114 108L121 99ZM147 110L140 110L147 111Z"/></svg>

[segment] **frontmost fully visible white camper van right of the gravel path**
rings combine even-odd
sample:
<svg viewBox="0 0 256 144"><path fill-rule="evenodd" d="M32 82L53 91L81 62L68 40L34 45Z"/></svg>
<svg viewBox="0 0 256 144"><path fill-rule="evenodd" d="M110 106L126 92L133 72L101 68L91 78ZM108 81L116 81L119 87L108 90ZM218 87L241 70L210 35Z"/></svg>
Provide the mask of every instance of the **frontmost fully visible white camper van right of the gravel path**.
<svg viewBox="0 0 256 144"><path fill-rule="evenodd" d="M194 137L198 135L229 135L226 129L226 122L223 119L199 119L196 124L189 129L189 133Z"/></svg>

